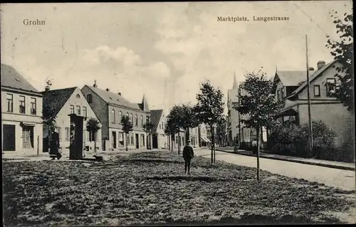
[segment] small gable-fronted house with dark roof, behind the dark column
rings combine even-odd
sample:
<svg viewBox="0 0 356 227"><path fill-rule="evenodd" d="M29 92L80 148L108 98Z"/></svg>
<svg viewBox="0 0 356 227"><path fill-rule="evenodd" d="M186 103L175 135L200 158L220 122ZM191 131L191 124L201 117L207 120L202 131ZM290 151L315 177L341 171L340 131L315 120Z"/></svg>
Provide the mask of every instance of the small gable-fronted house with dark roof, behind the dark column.
<svg viewBox="0 0 356 227"><path fill-rule="evenodd" d="M70 114L75 114L84 117L83 122L83 147L87 147L89 151L94 151L94 140L96 146L101 147L101 129L96 133L96 137L86 131L85 122L91 117L98 120L95 113L91 109L89 103L85 100L80 88L63 88L58 90L50 90L46 86L43 95L43 110L50 108L51 114L56 116L56 132L59 134L59 142L63 152L69 152L70 144ZM100 120L98 120L100 122ZM99 125L101 127L101 124ZM48 152L48 133L49 129L43 127L43 152Z"/></svg>

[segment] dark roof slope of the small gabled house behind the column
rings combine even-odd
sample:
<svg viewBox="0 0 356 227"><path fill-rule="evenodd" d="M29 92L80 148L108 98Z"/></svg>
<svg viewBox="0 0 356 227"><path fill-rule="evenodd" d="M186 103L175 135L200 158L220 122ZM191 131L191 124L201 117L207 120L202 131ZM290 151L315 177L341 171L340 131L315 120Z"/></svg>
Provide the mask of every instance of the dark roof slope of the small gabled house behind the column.
<svg viewBox="0 0 356 227"><path fill-rule="evenodd" d="M53 117L58 115L58 112L61 111L63 105L66 104L76 88L77 87L63 88L41 92L43 95L43 106L51 107L54 110Z"/></svg>

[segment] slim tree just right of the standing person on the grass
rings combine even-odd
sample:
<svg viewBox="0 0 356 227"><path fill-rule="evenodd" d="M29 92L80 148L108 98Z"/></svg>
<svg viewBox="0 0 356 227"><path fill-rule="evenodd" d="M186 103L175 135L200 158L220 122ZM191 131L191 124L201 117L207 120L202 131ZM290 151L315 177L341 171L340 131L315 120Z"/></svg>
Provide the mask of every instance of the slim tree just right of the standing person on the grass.
<svg viewBox="0 0 356 227"><path fill-rule="evenodd" d="M196 120L199 123L209 125L211 130L211 163L215 162L214 127L224 121L223 93L219 88L214 88L209 80L200 85L200 93L197 94L197 105L194 106Z"/></svg>

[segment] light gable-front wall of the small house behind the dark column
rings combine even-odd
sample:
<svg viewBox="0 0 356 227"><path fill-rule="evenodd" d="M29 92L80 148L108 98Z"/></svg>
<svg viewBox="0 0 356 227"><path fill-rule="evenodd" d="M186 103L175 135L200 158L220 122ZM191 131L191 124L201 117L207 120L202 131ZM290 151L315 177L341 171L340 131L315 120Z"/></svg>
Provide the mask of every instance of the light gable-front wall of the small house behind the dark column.
<svg viewBox="0 0 356 227"><path fill-rule="evenodd" d="M79 95L79 97L76 97L77 95ZM87 108L87 120L84 121L83 123L83 142L85 142L85 146L89 146L91 149L91 151L94 151L94 142L90 142L89 141L89 133L88 131L86 131L86 122L90 119L90 117L93 117L97 120L98 117L96 117L94 111L92 110L92 108L90 107L89 103L85 100L85 97L83 95L83 93L81 92L81 90L79 88L76 88L75 91L73 92L72 95L70 95L68 101L66 102L65 105L63 105L62 109L60 110L60 112L58 112L57 118L56 118L56 126L57 127L61 127L61 132L60 132L60 144L62 147L62 151L63 152L69 152L69 134L68 134L68 138L66 138L66 127L68 128L68 132L69 132L69 127L70 127L70 117L68 116L70 114L70 105L74 105L74 110L75 113L76 112L76 106L79 105L80 106L80 115L83 116L83 107ZM99 120L100 122L100 120ZM101 122L100 122L100 126ZM102 149L102 130L100 129L97 132L96 135L96 147L99 147L99 150Z"/></svg>

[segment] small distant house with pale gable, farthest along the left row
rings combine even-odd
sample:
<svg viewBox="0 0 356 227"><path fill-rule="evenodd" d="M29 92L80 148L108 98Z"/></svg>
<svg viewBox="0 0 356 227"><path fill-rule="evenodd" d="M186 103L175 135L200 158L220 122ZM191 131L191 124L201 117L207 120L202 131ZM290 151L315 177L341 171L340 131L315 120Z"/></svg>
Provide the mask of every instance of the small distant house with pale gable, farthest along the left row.
<svg viewBox="0 0 356 227"><path fill-rule="evenodd" d="M167 149L168 137L164 134L164 127L166 127L166 117L163 110L151 110L151 121L155 128L152 132L152 148L153 149Z"/></svg>

